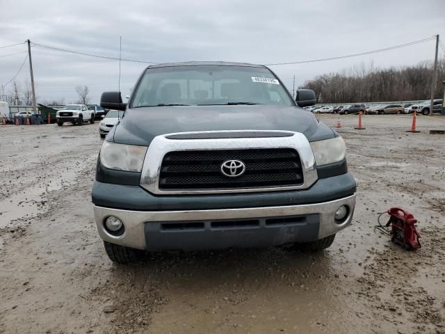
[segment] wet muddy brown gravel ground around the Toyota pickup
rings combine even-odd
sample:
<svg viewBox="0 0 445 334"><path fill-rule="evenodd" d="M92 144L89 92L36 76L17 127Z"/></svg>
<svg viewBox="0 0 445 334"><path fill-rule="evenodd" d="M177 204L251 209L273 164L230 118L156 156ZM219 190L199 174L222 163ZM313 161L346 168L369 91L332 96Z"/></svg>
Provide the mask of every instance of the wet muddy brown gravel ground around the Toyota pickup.
<svg viewBox="0 0 445 334"><path fill-rule="evenodd" d="M319 116L348 146L353 225L282 248L108 260L90 189L97 124L0 126L0 333L445 333L445 118ZM373 229L407 207L422 248ZM383 218L386 222L387 218Z"/></svg>

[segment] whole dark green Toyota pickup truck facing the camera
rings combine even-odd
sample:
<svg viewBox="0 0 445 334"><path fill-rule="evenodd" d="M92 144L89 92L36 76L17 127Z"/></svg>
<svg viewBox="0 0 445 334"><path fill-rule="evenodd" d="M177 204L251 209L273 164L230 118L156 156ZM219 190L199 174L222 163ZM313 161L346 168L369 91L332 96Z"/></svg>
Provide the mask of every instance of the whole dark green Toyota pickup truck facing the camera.
<svg viewBox="0 0 445 334"><path fill-rule="evenodd" d="M108 257L289 245L321 250L349 225L355 180L339 134L263 65L147 67L97 159L92 202Z"/></svg>

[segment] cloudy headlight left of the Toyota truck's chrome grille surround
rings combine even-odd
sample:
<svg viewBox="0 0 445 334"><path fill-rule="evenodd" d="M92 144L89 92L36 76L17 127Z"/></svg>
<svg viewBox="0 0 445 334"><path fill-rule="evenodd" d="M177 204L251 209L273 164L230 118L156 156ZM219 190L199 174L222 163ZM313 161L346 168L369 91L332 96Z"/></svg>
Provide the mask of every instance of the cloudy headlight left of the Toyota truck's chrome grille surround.
<svg viewBox="0 0 445 334"><path fill-rule="evenodd" d="M106 168L140 172L146 152L146 146L115 144L104 141L100 150L100 162Z"/></svg>

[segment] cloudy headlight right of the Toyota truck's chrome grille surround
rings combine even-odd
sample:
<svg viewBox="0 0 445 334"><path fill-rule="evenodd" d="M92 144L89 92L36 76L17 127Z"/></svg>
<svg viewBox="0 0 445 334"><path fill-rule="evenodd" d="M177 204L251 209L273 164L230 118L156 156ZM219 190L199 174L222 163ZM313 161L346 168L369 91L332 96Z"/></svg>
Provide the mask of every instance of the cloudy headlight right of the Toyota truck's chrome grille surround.
<svg viewBox="0 0 445 334"><path fill-rule="evenodd" d="M345 159L346 145L341 137L311 143L317 166L333 164Z"/></svg>

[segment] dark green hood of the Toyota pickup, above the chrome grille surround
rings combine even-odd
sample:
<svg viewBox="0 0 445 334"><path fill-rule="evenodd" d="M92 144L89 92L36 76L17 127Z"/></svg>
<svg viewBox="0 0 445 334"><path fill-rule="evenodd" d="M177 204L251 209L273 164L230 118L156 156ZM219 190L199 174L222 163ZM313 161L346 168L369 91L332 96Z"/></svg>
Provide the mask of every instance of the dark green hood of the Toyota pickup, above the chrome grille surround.
<svg viewBox="0 0 445 334"><path fill-rule="evenodd" d="M309 111L297 106L151 106L127 109L113 128L113 141L149 145L175 132L283 130L301 132L309 141L336 134Z"/></svg>

